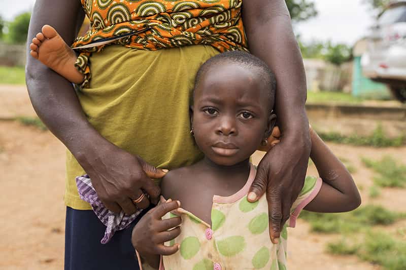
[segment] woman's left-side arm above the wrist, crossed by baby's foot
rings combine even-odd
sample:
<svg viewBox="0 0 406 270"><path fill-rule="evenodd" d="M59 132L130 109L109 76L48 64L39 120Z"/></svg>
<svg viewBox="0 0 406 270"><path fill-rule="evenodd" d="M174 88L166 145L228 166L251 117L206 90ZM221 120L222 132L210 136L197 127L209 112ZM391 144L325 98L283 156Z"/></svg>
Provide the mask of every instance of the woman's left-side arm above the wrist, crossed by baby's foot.
<svg viewBox="0 0 406 270"><path fill-rule="evenodd" d="M28 29L28 44L44 24L55 27L67 44L72 43L83 16L80 1L38 0ZM80 159L87 142L103 138L88 123L72 84L27 55L25 75L32 106L49 130Z"/></svg>

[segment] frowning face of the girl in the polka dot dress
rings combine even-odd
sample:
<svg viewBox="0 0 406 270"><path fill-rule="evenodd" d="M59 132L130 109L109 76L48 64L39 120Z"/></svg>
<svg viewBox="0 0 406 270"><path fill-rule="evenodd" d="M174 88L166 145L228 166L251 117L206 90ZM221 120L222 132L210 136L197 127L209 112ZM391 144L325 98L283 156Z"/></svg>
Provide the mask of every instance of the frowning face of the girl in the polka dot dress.
<svg viewBox="0 0 406 270"><path fill-rule="evenodd" d="M275 123L269 89L255 72L234 63L213 66L201 75L195 89L194 138L205 156L218 165L248 159Z"/></svg>

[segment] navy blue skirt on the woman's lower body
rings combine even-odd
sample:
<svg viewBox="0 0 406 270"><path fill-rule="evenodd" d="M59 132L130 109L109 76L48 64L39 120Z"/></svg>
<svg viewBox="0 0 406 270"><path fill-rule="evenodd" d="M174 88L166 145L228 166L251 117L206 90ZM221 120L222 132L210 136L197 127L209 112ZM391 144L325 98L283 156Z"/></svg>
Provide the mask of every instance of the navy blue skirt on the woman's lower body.
<svg viewBox="0 0 406 270"><path fill-rule="evenodd" d="M109 243L100 244L106 226L93 211L66 207L65 270L138 270L131 232L148 210L144 210L126 229L116 232Z"/></svg>

